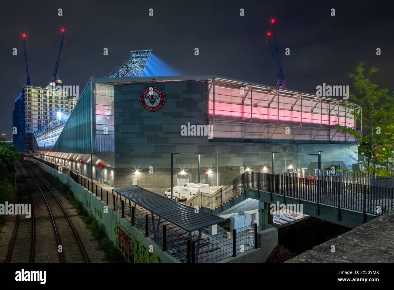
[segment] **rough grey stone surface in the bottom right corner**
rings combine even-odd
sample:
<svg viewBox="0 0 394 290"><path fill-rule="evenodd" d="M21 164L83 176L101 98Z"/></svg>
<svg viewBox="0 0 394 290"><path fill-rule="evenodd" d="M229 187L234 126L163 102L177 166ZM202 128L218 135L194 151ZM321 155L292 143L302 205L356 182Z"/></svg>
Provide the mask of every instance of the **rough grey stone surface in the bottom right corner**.
<svg viewBox="0 0 394 290"><path fill-rule="evenodd" d="M392 263L393 241L394 211L390 211L286 263Z"/></svg>

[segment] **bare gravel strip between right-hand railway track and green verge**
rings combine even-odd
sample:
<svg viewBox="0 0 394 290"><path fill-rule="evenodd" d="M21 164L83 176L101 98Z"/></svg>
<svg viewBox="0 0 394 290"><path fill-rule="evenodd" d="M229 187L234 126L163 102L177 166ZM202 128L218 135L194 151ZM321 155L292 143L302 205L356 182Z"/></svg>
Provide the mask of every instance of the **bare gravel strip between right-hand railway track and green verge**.
<svg viewBox="0 0 394 290"><path fill-rule="evenodd" d="M37 174L39 174L35 167L32 168ZM50 186L50 183L41 174L39 174L39 176L45 181L45 183L48 184L48 186ZM67 215L69 216L72 225L74 226L76 232L78 233L78 236L82 241L82 245L84 246L89 261L91 263L108 263L107 260L104 260L104 251L100 249L99 241L95 239L95 237L93 236L93 232L86 227L84 221L82 221L76 209L74 209L74 207L69 204L68 200L56 189L54 189L52 186L50 186L50 188L52 189L53 193L56 195Z"/></svg>

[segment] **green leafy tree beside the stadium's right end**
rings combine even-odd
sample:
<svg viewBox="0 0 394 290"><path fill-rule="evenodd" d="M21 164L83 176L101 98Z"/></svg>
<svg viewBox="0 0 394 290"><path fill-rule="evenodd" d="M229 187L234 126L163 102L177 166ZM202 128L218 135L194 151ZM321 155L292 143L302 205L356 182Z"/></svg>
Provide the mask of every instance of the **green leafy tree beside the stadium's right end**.
<svg viewBox="0 0 394 290"><path fill-rule="evenodd" d="M360 62L355 73L350 73L355 92L349 98L362 108L362 114L351 112L356 122L362 122L362 131L337 125L342 134L350 134L359 142L359 152L368 152L373 157L373 167L367 168L376 173L376 163L393 164L394 157L394 94L388 89L379 88L371 81L372 75L379 71L371 67L364 74L364 62Z"/></svg>

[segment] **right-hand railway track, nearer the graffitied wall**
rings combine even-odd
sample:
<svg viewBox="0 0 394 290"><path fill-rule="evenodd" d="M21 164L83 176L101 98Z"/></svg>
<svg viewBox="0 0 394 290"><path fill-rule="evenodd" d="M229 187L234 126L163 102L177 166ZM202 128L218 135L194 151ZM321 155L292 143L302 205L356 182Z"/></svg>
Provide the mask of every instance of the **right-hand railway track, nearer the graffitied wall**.
<svg viewBox="0 0 394 290"><path fill-rule="evenodd" d="M29 165L21 161L24 170L32 178L45 202L58 245L59 262L88 263L89 258L82 245L78 233L74 229L66 211L50 187L38 176ZM26 183L27 184L27 183ZM41 241L45 243L45 241Z"/></svg>

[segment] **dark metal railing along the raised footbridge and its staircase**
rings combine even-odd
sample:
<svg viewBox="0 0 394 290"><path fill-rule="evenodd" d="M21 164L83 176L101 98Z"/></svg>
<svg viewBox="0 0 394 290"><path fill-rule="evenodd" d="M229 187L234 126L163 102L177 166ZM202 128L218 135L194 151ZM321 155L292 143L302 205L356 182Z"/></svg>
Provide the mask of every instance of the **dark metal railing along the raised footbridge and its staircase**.
<svg viewBox="0 0 394 290"><path fill-rule="evenodd" d="M214 210L248 189L269 192L271 200L273 194L282 195L284 203L286 197L292 197L299 203L305 200L316 203L317 207L325 204L337 207L338 211L342 208L359 211L364 215L380 215L393 210L392 187L260 172L245 172L211 195L198 193L187 204Z"/></svg>

